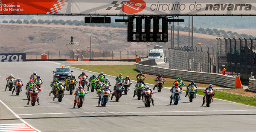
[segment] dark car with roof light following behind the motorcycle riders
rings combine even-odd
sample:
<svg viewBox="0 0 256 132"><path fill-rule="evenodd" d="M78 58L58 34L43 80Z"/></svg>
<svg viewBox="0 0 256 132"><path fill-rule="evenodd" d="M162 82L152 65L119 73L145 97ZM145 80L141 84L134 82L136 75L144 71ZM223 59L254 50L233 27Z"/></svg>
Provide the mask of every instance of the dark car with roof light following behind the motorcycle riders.
<svg viewBox="0 0 256 132"><path fill-rule="evenodd" d="M53 79L65 80L65 77L67 76L67 74L69 73L71 74L73 71L67 67L64 67L64 68L56 68L55 71L52 71L52 72L53 72Z"/></svg>

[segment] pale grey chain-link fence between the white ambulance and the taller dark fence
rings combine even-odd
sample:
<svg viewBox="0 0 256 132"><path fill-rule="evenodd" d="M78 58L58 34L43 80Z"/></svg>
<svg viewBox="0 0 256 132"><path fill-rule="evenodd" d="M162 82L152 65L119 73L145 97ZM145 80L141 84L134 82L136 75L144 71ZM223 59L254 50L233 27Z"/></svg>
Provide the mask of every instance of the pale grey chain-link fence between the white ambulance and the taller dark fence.
<svg viewBox="0 0 256 132"><path fill-rule="evenodd" d="M210 72L209 52L169 49L169 68L198 72Z"/></svg>

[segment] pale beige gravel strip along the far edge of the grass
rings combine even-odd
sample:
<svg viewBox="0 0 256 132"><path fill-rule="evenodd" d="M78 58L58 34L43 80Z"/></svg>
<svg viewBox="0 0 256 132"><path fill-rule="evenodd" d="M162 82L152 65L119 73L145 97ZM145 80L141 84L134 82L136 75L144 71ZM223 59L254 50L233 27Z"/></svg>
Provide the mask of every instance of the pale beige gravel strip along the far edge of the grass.
<svg viewBox="0 0 256 132"><path fill-rule="evenodd" d="M117 61L70 61L59 62L62 65L135 65L136 62L117 62Z"/></svg>

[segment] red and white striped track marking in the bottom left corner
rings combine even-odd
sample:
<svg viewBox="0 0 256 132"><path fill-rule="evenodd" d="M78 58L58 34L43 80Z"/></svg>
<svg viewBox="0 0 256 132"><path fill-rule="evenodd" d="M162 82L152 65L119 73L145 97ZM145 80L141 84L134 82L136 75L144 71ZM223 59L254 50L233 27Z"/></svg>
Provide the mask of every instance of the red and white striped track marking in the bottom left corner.
<svg viewBox="0 0 256 132"><path fill-rule="evenodd" d="M0 124L0 132L38 132L27 124Z"/></svg>

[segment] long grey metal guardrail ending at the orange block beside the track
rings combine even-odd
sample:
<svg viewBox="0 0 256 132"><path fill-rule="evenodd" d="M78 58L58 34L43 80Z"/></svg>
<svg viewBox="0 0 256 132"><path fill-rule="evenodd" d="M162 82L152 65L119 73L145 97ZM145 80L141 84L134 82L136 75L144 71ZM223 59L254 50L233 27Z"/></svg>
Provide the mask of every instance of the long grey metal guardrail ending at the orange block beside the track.
<svg viewBox="0 0 256 132"><path fill-rule="evenodd" d="M162 67L141 65L136 63L136 69L143 73L158 75L161 73L164 77L178 78L181 77L184 80L194 80L200 83L215 84L218 86L234 88L235 78L234 76L227 76L217 73L204 73L187 70L175 70Z"/></svg>

